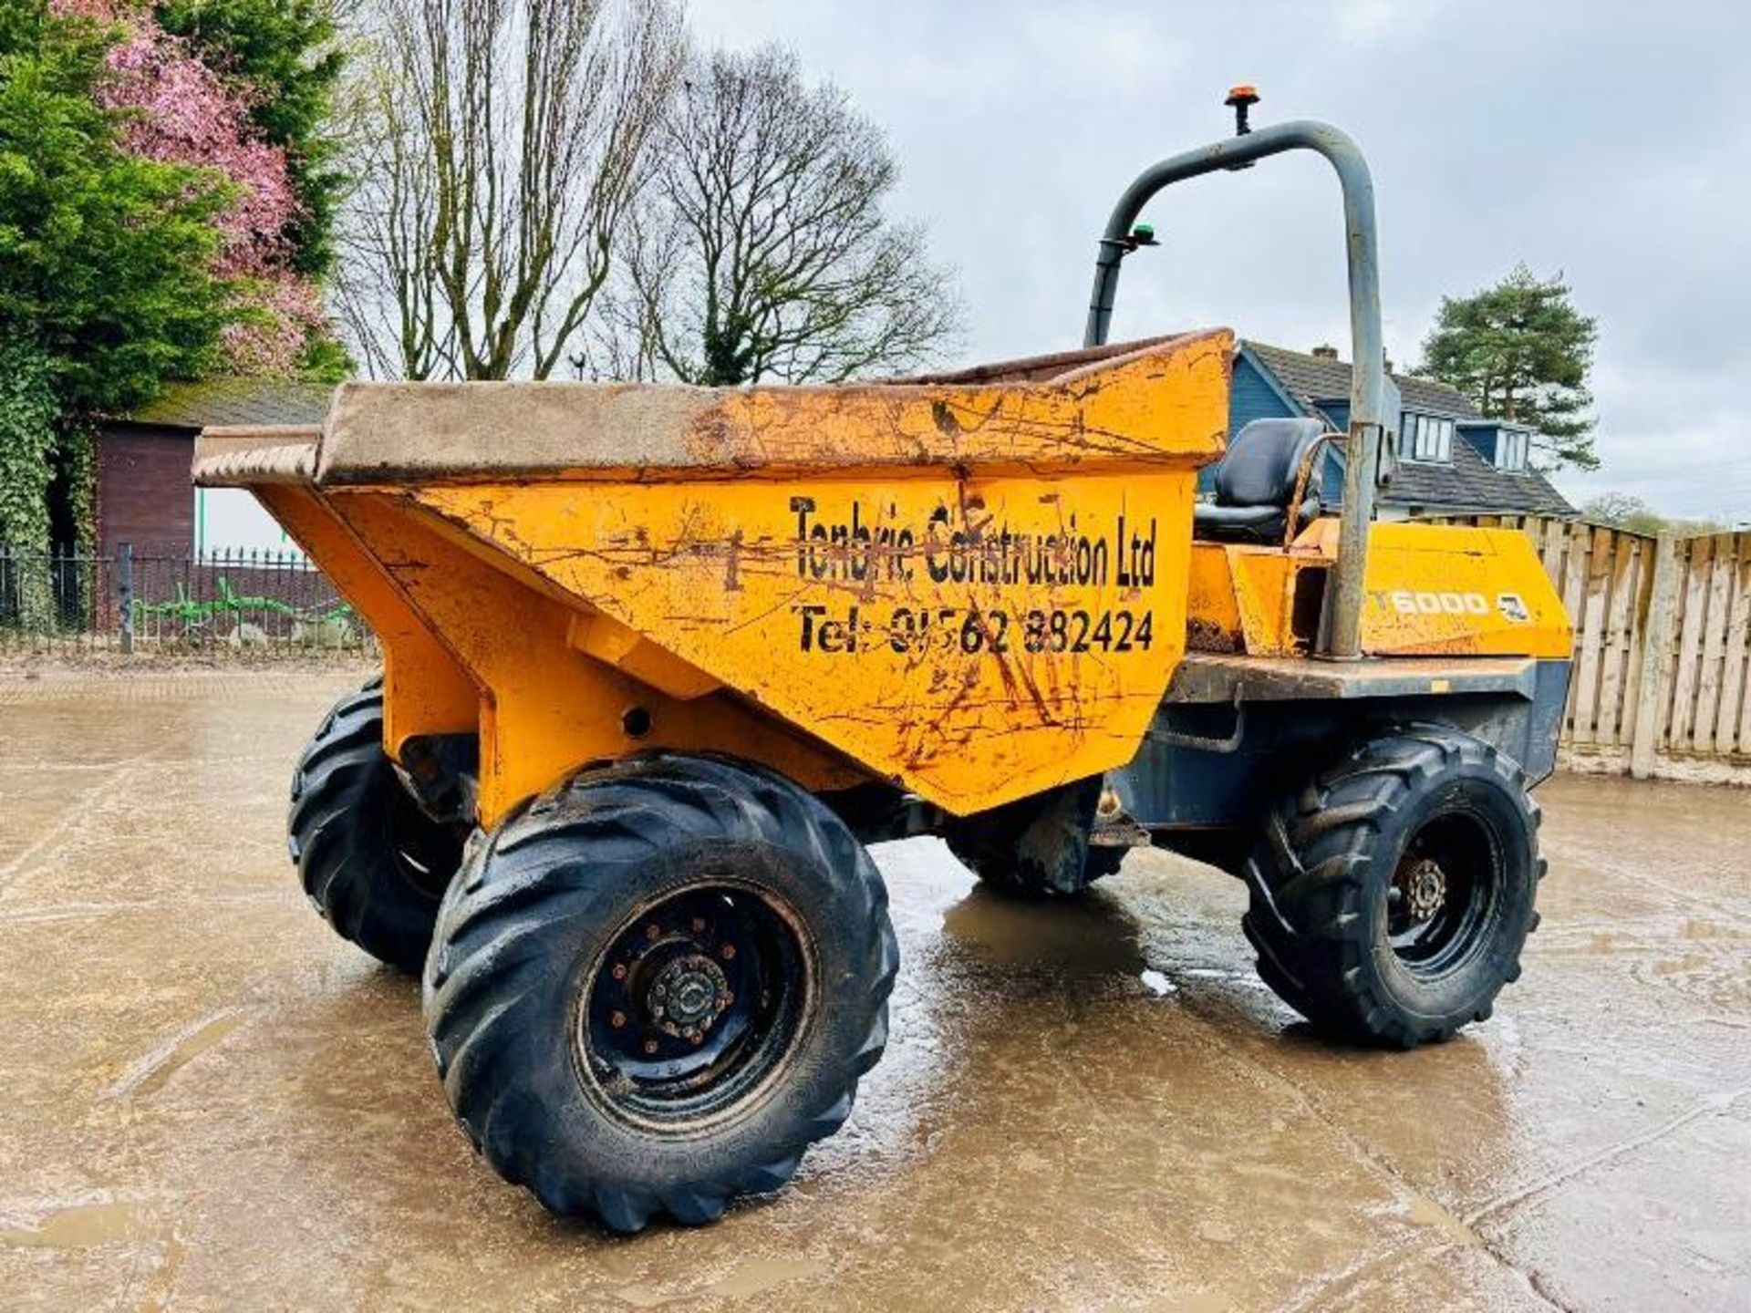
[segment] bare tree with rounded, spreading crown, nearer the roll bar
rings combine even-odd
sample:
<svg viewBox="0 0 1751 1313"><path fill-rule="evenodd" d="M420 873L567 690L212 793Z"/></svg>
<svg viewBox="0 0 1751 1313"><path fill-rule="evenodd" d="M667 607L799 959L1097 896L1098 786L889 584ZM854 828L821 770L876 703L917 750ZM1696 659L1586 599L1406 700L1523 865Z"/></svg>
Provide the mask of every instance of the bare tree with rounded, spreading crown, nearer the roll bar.
<svg viewBox="0 0 1751 1313"><path fill-rule="evenodd" d="M599 361L580 373L732 385L839 382L930 359L953 278L890 221L888 142L779 46L695 58L630 214Z"/></svg>

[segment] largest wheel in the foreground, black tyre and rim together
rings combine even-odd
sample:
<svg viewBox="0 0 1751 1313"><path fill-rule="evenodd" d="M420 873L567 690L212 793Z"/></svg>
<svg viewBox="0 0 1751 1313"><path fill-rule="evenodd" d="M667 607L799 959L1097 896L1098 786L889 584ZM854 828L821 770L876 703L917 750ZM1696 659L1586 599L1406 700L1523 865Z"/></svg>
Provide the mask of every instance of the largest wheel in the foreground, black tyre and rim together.
<svg viewBox="0 0 1751 1313"><path fill-rule="evenodd" d="M657 755L476 840L425 1022L499 1175L630 1232L784 1185L881 1057L897 970L881 875L823 804Z"/></svg>

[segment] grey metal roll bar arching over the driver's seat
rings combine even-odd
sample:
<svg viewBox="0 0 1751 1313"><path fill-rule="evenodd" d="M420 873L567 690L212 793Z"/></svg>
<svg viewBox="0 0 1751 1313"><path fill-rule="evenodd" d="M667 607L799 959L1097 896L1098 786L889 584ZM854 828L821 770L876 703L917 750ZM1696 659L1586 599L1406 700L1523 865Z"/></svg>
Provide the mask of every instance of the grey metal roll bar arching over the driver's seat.
<svg viewBox="0 0 1751 1313"><path fill-rule="evenodd" d="M1233 100L1229 103L1234 103ZM1136 250L1136 217L1163 187L1205 173L1240 170L1255 159L1285 151L1315 151L1338 173L1343 189L1345 249L1350 266L1350 434L1345 443L1343 509L1338 532L1338 562L1326 579L1315 655L1327 660L1357 660L1362 655L1362 595L1368 574L1368 525L1375 518L1375 485L1380 448L1387 432L1385 345L1380 331L1380 238L1375 229L1375 182L1362 151L1331 124L1308 119L1247 130L1236 110L1240 133L1226 142L1163 159L1145 168L1124 189L1107 219L1107 231L1094 257L1094 291L1089 299L1084 347L1107 341L1112 305L1119 292L1119 263Z"/></svg>

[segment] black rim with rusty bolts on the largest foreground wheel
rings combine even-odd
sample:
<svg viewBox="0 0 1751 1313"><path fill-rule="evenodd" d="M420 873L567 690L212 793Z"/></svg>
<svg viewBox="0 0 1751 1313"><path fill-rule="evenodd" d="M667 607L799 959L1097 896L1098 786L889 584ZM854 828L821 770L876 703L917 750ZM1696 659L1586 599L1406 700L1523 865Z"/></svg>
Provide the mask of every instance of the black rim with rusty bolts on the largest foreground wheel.
<svg viewBox="0 0 1751 1313"><path fill-rule="evenodd" d="M692 1133L760 1101L811 1007L812 959L788 903L692 884L629 917L590 966L578 1068L615 1115Z"/></svg>

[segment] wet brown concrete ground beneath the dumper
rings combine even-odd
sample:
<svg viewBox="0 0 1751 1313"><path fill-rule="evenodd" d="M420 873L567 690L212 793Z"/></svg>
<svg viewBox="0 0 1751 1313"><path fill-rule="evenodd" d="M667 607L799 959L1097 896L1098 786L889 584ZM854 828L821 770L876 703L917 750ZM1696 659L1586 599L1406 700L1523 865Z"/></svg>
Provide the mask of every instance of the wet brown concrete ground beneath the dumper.
<svg viewBox="0 0 1751 1313"><path fill-rule="evenodd" d="M415 984L296 888L352 679L0 678L0 1306L1751 1306L1747 793L1553 781L1525 979L1413 1054L1304 1035L1213 872L1037 909L891 846L853 1122L613 1239L473 1157Z"/></svg>

